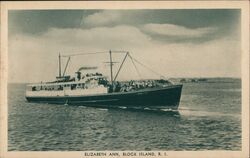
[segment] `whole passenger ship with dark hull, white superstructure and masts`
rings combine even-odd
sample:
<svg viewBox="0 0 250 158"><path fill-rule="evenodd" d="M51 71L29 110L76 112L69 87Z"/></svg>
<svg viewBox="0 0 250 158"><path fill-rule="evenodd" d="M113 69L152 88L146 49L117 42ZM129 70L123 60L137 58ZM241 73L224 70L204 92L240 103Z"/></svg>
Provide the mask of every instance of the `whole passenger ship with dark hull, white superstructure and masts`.
<svg viewBox="0 0 250 158"><path fill-rule="evenodd" d="M26 99L28 102L49 104L82 105L93 107L122 107L122 108L151 108L178 110L182 84L173 84L167 79L151 79L137 81L117 81L117 77L127 58L133 63L146 67L133 58L129 52L125 56L119 69L113 75L112 53L114 51L100 52L109 54L110 79L101 73L86 73L84 70L96 67L81 67L76 72L76 77L65 75L69 60L73 55L59 54L59 75L53 82L41 82L26 86ZM77 54L86 55L89 53ZM95 53L96 54L96 53ZM61 58L67 57L67 63L62 74ZM135 66L135 65L134 65ZM146 67L148 68L148 67ZM151 70L150 68L148 68Z"/></svg>

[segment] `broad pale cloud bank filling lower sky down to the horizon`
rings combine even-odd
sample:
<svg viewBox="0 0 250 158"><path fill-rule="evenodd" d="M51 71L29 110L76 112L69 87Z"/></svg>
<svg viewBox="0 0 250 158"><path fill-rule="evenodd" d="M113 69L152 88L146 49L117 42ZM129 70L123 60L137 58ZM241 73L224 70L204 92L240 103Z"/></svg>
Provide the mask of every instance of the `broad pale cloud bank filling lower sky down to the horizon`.
<svg viewBox="0 0 250 158"><path fill-rule="evenodd" d="M132 26L92 29L53 28L40 36L18 34L9 39L9 79L11 82L53 80L58 74L58 53L72 54L103 50L128 50L132 56L168 77L240 76L240 42L216 39L201 44L158 42ZM114 54L114 61L122 57ZM108 56L72 58L67 72L81 66L98 66L109 75ZM65 64L66 60L63 61ZM119 79L139 77L131 61L124 64ZM115 65L114 72L118 66ZM152 73L139 65L142 77ZM153 76L158 77L158 76Z"/></svg>

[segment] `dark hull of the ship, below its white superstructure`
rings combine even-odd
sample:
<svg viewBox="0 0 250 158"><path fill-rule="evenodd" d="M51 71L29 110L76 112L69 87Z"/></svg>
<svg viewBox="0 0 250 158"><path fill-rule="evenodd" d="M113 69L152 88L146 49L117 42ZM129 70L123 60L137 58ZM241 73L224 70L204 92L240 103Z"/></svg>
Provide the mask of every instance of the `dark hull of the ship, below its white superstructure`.
<svg viewBox="0 0 250 158"><path fill-rule="evenodd" d="M124 106L124 107L172 107L178 108L182 85L161 89L140 90L133 92L108 93L91 96L28 97L29 102L86 106Z"/></svg>

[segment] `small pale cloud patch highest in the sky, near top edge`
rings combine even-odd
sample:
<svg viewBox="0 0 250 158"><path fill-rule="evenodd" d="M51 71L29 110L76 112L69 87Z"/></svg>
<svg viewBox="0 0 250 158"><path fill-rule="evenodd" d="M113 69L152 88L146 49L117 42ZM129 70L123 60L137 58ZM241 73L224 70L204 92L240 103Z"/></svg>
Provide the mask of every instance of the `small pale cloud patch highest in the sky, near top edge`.
<svg viewBox="0 0 250 158"><path fill-rule="evenodd" d="M87 26L103 26L120 20L121 14L118 11L104 10L87 16L82 24Z"/></svg>

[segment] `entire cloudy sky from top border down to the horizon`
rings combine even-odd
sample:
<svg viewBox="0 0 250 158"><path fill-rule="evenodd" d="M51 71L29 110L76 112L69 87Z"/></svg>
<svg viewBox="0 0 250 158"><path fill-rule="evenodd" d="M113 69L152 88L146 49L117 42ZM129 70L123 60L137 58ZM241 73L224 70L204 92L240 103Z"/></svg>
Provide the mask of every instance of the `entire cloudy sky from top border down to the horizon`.
<svg viewBox="0 0 250 158"><path fill-rule="evenodd" d="M59 53L109 50L129 51L167 78L240 77L240 16L238 9L10 10L8 81L55 80ZM109 75L108 57L72 57L66 74L98 66ZM113 54L114 74L123 57ZM118 79L159 77L135 65L126 60Z"/></svg>

